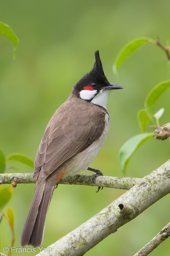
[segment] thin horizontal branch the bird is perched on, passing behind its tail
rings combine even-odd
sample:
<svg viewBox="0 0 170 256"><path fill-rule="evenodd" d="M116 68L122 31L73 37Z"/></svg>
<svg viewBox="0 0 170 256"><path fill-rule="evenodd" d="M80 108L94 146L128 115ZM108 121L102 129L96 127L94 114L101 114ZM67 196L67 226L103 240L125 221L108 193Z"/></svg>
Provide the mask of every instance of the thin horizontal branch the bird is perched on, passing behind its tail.
<svg viewBox="0 0 170 256"><path fill-rule="evenodd" d="M10 173L0 174L0 184L12 184L16 187L16 184L35 183L32 179L32 173ZM95 179L95 184L91 180L91 175L68 176L62 178L58 184L74 184L74 185L86 185L97 187L112 187L119 189L130 189L140 181L140 178L131 177L110 177L99 176Z"/></svg>

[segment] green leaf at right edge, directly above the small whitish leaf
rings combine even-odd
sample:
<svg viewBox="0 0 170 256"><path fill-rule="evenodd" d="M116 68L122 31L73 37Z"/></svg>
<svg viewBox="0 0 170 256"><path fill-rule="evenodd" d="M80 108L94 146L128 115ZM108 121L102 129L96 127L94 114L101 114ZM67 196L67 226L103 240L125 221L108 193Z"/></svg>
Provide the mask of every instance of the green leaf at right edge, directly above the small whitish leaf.
<svg viewBox="0 0 170 256"><path fill-rule="evenodd" d="M150 119L153 119L154 117L153 108L155 106L155 103L157 102L161 94L163 94L164 91L166 91L169 87L170 87L170 80L163 81L157 84L155 87L153 87L152 90L147 95L144 105Z"/></svg>

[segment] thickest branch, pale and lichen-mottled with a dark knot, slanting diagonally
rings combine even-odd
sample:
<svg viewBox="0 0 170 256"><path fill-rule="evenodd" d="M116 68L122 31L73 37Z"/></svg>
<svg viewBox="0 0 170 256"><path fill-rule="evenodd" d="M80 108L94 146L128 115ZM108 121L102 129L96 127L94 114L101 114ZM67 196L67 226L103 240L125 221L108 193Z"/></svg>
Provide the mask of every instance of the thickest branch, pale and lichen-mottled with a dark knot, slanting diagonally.
<svg viewBox="0 0 170 256"><path fill-rule="evenodd" d="M48 252L43 251L37 255L84 255L109 234L117 231L168 193L170 193L170 160L142 178L139 184L87 222L49 246Z"/></svg>

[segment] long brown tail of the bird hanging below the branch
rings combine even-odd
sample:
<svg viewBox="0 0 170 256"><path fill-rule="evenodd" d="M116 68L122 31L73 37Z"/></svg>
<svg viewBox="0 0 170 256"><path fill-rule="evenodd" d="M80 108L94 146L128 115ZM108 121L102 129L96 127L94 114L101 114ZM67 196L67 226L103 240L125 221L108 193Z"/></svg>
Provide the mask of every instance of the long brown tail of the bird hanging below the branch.
<svg viewBox="0 0 170 256"><path fill-rule="evenodd" d="M33 201L21 235L22 247L26 245L38 247L42 243L46 215L54 188L55 185L49 186L46 181L36 185Z"/></svg>

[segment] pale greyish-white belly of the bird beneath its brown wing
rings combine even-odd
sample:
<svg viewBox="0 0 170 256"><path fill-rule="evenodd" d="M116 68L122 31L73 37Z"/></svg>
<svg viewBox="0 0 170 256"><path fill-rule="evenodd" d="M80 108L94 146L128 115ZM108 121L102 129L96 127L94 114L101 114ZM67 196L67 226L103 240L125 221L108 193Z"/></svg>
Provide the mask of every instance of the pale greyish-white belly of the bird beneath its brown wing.
<svg viewBox="0 0 170 256"><path fill-rule="evenodd" d="M104 141L106 140L106 135L109 129L109 116L107 113L105 116L105 122L106 125L100 137L95 140L87 149L78 153L76 156L74 156L72 159L68 160L65 163L67 169L65 176L75 175L82 170L88 169L89 165L94 160L95 156L97 156L97 153L99 152Z"/></svg>

